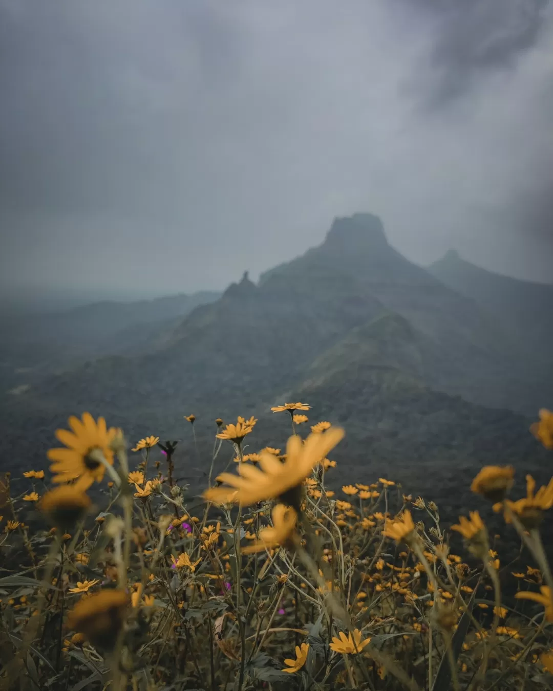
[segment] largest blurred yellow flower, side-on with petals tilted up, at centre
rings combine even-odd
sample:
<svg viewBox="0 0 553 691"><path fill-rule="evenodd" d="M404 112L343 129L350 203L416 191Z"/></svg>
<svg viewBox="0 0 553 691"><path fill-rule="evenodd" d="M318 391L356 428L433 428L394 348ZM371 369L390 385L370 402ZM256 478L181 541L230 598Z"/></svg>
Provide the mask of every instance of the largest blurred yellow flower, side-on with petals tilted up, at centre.
<svg viewBox="0 0 553 691"><path fill-rule="evenodd" d="M203 495L207 500L218 504L255 504L280 497L288 490L297 488L315 464L334 448L343 436L344 430L341 428L332 428L321 435L309 435L305 443L294 435L286 444L285 462L280 462L270 453L261 453L260 465L263 470L244 464L241 466L241 475L222 473L218 480L227 482L230 486L213 487L207 489ZM289 499L294 508L298 509L298 498Z"/></svg>

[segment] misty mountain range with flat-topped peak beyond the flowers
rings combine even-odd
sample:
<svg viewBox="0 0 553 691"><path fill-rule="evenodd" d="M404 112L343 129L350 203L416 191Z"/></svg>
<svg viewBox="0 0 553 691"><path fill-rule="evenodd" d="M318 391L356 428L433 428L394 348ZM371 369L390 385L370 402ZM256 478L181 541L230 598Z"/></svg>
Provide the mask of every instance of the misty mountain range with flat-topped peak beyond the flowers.
<svg viewBox="0 0 553 691"><path fill-rule="evenodd" d="M451 256L442 269L444 262ZM506 278L494 283L491 300L484 283L479 292L469 276L469 290L465 274L442 269L409 262L377 216L355 214L336 218L324 242L257 284L245 273L221 296L100 303L57 316L50 330L37 327L44 343L55 350L73 339L81 347L94 335L99 350L34 377L32 362L29 372L10 371L6 444L17 463L44 466L55 426L89 410L131 439L181 439L177 461L200 482L205 461L196 458L183 415L196 415L198 444L209 453L216 417L255 415L257 450L281 446L290 433L288 416L270 407L305 399L312 423L346 427L341 480L364 468L397 476L412 491L432 477L439 490L466 485L460 473L499 461L539 476L543 449L528 427L547 405L543 368L551 360L546 348L539 364L529 358L523 332L508 323L509 303L523 314L537 288ZM542 288L546 301L550 287ZM525 319L529 334L536 329L533 342L546 338ZM467 501L467 493L448 500L451 507Z"/></svg>

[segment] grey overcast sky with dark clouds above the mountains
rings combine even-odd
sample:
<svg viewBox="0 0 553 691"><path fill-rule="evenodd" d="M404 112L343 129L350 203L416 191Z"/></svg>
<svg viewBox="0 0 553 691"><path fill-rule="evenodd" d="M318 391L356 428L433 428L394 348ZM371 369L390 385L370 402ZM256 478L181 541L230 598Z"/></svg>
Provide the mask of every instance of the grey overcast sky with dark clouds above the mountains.
<svg viewBox="0 0 553 691"><path fill-rule="evenodd" d="M0 0L3 289L220 289L355 211L553 281L552 4Z"/></svg>

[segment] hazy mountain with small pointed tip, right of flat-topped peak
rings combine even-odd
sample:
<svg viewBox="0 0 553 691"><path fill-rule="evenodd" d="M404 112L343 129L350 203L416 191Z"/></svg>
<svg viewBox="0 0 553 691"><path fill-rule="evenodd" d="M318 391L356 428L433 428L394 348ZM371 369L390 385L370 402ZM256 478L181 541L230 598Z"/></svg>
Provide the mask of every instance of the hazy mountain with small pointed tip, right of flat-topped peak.
<svg viewBox="0 0 553 691"><path fill-rule="evenodd" d="M520 281L482 269L450 249L428 267L430 274L474 300L493 317L509 339L536 364L552 365L553 285ZM553 371L550 369L553 381Z"/></svg>

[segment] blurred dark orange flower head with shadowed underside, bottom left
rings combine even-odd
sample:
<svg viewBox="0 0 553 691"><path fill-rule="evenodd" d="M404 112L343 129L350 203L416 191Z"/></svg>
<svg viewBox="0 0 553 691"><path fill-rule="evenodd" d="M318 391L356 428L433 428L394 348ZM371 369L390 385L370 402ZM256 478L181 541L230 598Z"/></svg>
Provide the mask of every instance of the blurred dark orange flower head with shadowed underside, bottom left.
<svg viewBox="0 0 553 691"><path fill-rule="evenodd" d="M128 606L129 596L124 590L106 588L79 600L68 614L68 627L84 634L95 647L111 650Z"/></svg>

